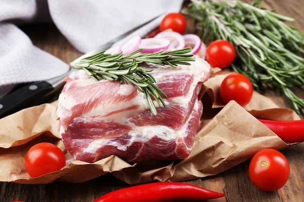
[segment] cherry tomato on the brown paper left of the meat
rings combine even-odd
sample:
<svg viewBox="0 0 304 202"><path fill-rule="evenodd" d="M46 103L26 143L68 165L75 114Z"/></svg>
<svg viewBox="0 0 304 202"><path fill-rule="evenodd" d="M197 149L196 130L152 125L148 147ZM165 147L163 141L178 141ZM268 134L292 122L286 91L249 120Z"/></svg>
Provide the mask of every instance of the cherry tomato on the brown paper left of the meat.
<svg viewBox="0 0 304 202"><path fill-rule="evenodd" d="M66 165L66 158L56 145L41 142L32 146L26 153L24 165L31 177L38 177L61 170Z"/></svg>

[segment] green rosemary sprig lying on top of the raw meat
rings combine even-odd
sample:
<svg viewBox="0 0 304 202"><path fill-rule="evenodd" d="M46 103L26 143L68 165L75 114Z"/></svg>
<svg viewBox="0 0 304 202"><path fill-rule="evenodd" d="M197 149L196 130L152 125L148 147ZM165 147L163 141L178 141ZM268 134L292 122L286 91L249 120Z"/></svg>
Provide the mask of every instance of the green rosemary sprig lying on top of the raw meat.
<svg viewBox="0 0 304 202"><path fill-rule="evenodd" d="M142 49L138 49L128 55L106 54L105 51L86 57L74 63L76 69L83 69L87 75L99 81L106 79L109 81L119 81L120 83L130 83L138 91L145 94L148 105L153 115L157 115L152 97L158 106L166 104L163 98L167 95L158 88L156 80L149 72L152 69L140 68L145 63L158 65L169 65L176 68L178 64L190 65L189 62L195 61L190 54L190 47L179 50L159 51L155 53L139 54Z"/></svg>

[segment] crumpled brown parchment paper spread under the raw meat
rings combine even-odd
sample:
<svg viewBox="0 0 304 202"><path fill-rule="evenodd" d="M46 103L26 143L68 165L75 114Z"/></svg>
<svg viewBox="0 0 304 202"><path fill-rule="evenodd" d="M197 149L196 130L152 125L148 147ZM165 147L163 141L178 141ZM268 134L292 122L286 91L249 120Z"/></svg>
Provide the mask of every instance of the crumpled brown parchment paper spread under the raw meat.
<svg viewBox="0 0 304 202"><path fill-rule="evenodd" d="M0 181L47 184L55 181L85 182L106 173L130 185L152 181L186 181L219 174L264 148L283 149L289 144L256 118L298 120L291 109L279 109L269 98L254 92L245 107L235 101L224 105L219 98L221 80L231 71L216 71L204 83L202 129L191 154L183 160L149 160L128 163L112 155L95 163L74 161L59 136L57 101L23 109L0 119ZM31 178L24 167L28 149L42 141L56 144L66 154L61 170Z"/></svg>

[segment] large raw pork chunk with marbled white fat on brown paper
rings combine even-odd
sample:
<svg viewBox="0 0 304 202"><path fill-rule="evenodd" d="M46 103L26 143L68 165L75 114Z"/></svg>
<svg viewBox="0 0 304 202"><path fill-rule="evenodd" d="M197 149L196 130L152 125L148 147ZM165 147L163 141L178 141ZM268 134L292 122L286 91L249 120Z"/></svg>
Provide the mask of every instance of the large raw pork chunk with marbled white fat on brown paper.
<svg viewBox="0 0 304 202"><path fill-rule="evenodd" d="M149 65L168 98L152 115L144 94L131 84L95 81L84 71L71 74L59 96L60 135L75 160L95 162L117 155L128 162L186 158L200 127L203 105L198 99L210 76L207 62Z"/></svg>

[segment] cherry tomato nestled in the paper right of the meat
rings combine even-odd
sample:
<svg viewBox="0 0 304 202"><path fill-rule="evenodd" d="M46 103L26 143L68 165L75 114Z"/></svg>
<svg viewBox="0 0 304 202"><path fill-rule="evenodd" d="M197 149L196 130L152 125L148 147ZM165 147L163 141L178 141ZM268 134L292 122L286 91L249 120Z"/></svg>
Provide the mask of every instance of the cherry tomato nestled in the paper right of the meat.
<svg viewBox="0 0 304 202"><path fill-rule="evenodd" d="M220 97L225 104L235 100L240 106L247 105L253 96L253 85L249 78L239 73L232 73L220 84Z"/></svg>

